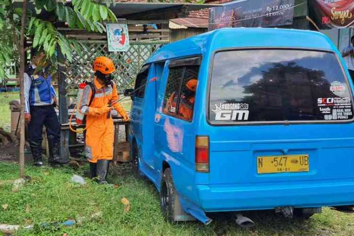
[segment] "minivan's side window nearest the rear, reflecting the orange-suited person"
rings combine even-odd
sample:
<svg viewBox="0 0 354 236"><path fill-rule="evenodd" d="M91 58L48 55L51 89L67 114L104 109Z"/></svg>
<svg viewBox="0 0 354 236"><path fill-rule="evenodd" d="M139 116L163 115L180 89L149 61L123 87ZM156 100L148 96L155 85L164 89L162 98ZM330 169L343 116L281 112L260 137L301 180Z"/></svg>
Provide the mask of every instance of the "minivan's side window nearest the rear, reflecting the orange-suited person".
<svg viewBox="0 0 354 236"><path fill-rule="evenodd" d="M192 121L199 66L169 69L164 97L164 113Z"/></svg>

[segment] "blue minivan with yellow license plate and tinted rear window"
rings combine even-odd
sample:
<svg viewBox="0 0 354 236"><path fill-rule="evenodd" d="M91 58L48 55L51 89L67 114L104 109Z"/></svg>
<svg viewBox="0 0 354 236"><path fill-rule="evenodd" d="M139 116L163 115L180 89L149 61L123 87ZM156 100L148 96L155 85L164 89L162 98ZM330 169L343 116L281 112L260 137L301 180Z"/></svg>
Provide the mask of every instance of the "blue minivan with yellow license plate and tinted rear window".
<svg viewBox="0 0 354 236"><path fill-rule="evenodd" d="M352 87L317 32L223 28L170 43L136 78L133 171L154 183L171 222L351 207Z"/></svg>

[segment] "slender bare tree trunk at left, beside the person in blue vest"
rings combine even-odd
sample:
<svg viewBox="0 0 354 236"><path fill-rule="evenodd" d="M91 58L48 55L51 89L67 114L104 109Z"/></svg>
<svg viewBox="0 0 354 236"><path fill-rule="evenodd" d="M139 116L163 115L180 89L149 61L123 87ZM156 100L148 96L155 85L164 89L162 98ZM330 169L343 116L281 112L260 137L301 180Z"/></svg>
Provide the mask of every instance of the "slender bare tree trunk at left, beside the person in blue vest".
<svg viewBox="0 0 354 236"><path fill-rule="evenodd" d="M26 20L26 12L27 12L27 0L23 1L22 7L22 18L21 18L21 31L20 31L20 42L18 51L20 53L20 178L24 177L24 63L25 63L25 56L24 56L24 26Z"/></svg>

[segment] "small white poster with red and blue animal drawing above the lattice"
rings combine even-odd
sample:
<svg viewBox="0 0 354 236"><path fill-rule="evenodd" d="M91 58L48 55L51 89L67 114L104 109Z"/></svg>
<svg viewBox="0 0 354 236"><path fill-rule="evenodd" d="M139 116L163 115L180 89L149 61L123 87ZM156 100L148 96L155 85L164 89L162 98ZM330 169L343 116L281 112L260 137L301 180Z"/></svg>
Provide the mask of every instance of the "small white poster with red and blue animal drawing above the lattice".
<svg viewBox="0 0 354 236"><path fill-rule="evenodd" d="M107 24L108 51L127 51L129 34L126 24Z"/></svg>

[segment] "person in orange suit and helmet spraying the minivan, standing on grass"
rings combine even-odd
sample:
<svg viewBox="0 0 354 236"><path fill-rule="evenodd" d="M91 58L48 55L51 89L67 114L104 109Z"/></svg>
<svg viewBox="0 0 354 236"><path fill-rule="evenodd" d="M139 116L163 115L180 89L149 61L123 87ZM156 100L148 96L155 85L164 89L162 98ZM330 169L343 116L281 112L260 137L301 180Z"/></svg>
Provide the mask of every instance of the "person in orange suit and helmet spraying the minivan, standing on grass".
<svg viewBox="0 0 354 236"><path fill-rule="evenodd" d="M93 69L95 91L91 86L85 86L79 109L86 114L85 151L90 162L91 177L98 178L100 184L106 184L109 162L113 158L114 126L111 109L119 112L123 121L129 121L129 116L118 102L119 95L112 81L112 73L115 71L113 61L106 56L99 56L93 63Z"/></svg>

